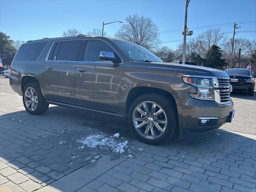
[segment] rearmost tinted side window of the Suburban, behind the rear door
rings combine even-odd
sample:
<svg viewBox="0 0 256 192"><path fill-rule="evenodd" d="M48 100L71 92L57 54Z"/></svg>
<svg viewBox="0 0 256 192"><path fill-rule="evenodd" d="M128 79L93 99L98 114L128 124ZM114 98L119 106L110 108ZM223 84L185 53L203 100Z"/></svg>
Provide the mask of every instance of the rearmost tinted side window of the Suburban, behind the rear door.
<svg viewBox="0 0 256 192"><path fill-rule="evenodd" d="M15 56L15 60L37 60L46 44L47 42L24 44L20 46L20 49Z"/></svg>

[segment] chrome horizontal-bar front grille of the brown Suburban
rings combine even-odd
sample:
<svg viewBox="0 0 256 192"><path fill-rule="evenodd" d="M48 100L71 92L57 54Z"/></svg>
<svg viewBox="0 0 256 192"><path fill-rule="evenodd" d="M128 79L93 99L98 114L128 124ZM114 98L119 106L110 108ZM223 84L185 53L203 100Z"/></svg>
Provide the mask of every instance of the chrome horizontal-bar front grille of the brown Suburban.
<svg viewBox="0 0 256 192"><path fill-rule="evenodd" d="M229 92L229 78L217 77L219 90L220 90L220 102L228 103L230 102L230 92Z"/></svg>

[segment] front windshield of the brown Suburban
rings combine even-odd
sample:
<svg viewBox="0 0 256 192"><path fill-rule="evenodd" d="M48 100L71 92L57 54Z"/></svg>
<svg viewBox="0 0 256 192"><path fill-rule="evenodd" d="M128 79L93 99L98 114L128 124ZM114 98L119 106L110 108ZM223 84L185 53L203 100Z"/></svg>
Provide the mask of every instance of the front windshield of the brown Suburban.
<svg viewBox="0 0 256 192"><path fill-rule="evenodd" d="M114 40L114 42L130 59L130 61L163 62L160 58L152 54L152 52L140 45L119 40Z"/></svg>

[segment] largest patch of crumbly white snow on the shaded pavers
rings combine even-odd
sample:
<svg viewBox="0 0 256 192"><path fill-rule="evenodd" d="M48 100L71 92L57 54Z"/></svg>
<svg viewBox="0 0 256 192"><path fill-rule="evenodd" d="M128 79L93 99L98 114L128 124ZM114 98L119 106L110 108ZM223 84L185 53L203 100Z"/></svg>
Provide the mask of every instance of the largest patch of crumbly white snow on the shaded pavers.
<svg viewBox="0 0 256 192"><path fill-rule="evenodd" d="M113 137L107 137L104 134L90 135L80 140L77 140L77 142L80 142L85 146L88 146L91 148L95 148L97 146L99 146L100 148L103 147L104 149L110 148L116 153L118 152L123 153L124 148L127 147L127 144L128 144L128 141L118 142Z"/></svg>

